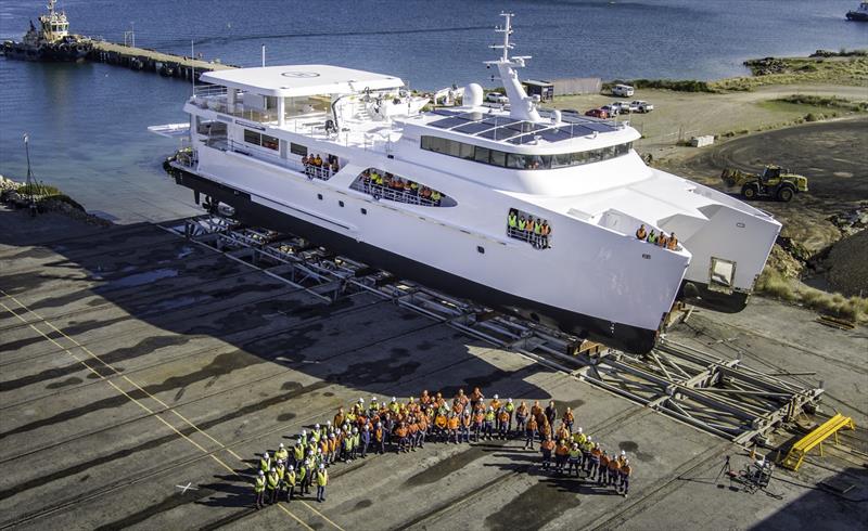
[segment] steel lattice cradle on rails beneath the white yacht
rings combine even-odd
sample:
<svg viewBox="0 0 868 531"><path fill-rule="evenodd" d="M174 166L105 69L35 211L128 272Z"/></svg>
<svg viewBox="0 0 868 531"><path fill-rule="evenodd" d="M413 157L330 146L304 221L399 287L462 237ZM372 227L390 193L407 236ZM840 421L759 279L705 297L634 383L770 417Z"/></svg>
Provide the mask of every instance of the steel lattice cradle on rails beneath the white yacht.
<svg viewBox="0 0 868 531"><path fill-rule="evenodd" d="M815 406L824 390L662 339L633 355L401 281L302 238L202 216L164 229L334 302L369 292L497 347L520 352L704 431L750 445Z"/></svg>

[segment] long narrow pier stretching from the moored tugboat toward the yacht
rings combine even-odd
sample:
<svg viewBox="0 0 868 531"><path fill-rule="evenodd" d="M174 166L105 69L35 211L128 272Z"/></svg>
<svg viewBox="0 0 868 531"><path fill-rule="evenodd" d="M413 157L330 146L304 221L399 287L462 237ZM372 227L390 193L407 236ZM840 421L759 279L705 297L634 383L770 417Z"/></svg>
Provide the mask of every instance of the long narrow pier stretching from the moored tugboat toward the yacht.
<svg viewBox="0 0 868 531"><path fill-rule="evenodd" d="M94 41L93 50L88 55L90 61L112 65L126 66L136 70L153 72L164 77L177 77L192 80L202 73L235 68L210 61L157 52L146 48L135 48L108 41Z"/></svg>

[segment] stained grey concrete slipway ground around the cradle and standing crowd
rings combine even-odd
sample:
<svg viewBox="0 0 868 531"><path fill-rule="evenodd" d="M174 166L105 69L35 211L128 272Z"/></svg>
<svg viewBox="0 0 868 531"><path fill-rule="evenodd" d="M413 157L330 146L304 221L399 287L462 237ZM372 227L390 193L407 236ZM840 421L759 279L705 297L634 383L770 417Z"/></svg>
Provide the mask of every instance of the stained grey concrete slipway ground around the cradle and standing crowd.
<svg viewBox="0 0 868 531"><path fill-rule="evenodd" d="M0 207L0 225L2 528L860 529L865 522L864 454L830 446L821 466L807 463L797 477L776 471L774 496L751 495L719 475L725 455L736 470L748 463L723 439L370 294L324 303L152 224L98 229ZM774 311L799 323L790 327L800 328L799 338L783 341L777 328L765 329L762 316ZM699 312L673 334L716 345L723 328L720 337L762 352L764 363L821 371L833 381L831 394L864 409L853 387L864 381L864 362L837 360L861 355L864 329L832 331L799 309L763 305L745 312ZM762 332L731 327L736 319ZM510 440L368 456L331 468L322 504L306 496L253 508L257 454L291 445L339 405L473 386L489 397L572 406L595 440L628 453L636 474L629 497L545 472L538 452ZM819 489L824 480L855 487L839 495Z"/></svg>

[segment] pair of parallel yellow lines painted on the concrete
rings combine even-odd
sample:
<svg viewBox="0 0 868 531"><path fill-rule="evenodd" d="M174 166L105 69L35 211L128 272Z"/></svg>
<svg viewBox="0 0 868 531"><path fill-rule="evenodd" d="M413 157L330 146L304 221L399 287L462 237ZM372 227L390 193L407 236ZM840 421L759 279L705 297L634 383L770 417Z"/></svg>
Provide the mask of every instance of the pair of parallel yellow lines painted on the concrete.
<svg viewBox="0 0 868 531"><path fill-rule="evenodd" d="M188 419L186 416L181 415L180 413L178 413L177 411L175 411L174 409L171 409L169 405L167 405L165 402L163 402L163 401L162 401L162 400L159 400L158 398L154 397L154 396L153 396L153 394L151 394L150 392L148 392L148 391L145 391L144 389L142 389L142 387L141 387L139 384L137 384L137 383L135 383L133 380L131 380L131 379L130 379L128 376L120 374L120 372L119 372L118 370L116 370L115 367L113 367L112 365L110 365L108 363L106 363L105 361L103 361L103 360L102 360L102 359L101 359L99 355L97 355L97 354L94 354L93 352L91 352L91 350L90 350L90 349L88 349L88 348L87 348L87 347L85 347L84 345L79 344L78 341L76 341L75 339L73 339L73 338L72 338L72 337L69 337L68 335L66 335L66 334L65 334L63 331L61 331L60 328L58 328L56 326L54 326L53 324L51 324L51 322L49 322L49 321L48 321L46 318L43 318L42 315L38 314L36 311L34 311L34 310L31 310L30 308L28 308L27 306L25 306L25 305L24 305L22 301L20 301L18 299L16 299L14 296L12 296L12 295L9 295L8 293L5 293L5 292L4 292L4 290L2 290L2 289L0 289L0 293L1 293L1 294L3 294L4 296L9 297L10 299L14 300L16 305L18 305L21 308L23 308L23 309L24 309L24 310L26 310L27 312L29 312L29 313L33 313L34 315L36 315L36 318L37 318L37 319L39 319L39 320L40 320L40 321L41 321L43 324L46 324L46 325L50 326L52 329L54 329L54 332L56 332L58 334L62 335L63 337L65 337L65 338L66 338L66 339L68 339L69 341L72 341L72 342L73 342L73 344L74 344L76 347L80 348L81 350L84 350L85 352L87 352L87 353L88 353L90 357L92 357L94 360L99 361L99 362L100 362L100 363L102 363L104 366L106 366L106 367L108 367L110 370L112 370L112 372L114 372L116 375L118 375L118 376L120 376L123 379L127 380L127 381L128 381L130 385L132 385L133 387L136 387L136 389L138 389L138 390L139 390L139 391L141 391L141 392L143 392L145 396L150 397L150 398L151 398L152 400L154 400L155 402L159 403L159 404L161 404L163 407L165 407L167 411L169 411L169 412L174 413L175 415L177 415L177 416L178 416L178 417L179 417L181 420L183 420L186 424L188 424L188 425L189 425L191 428L195 429L197 432L202 433L203 436L207 437L208 439L210 439L212 441L214 441L216 444L218 444L218 445L220 446L220 450L226 450L227 452L229 452L229 454L230 454L230 455L232 455L234 458L237 458L239 462L241 462L243 465L245 465L245 466L246 466L246 463L244 462L244 459L243 459L243 458L242 458L240 455L238 455L235 452L233 452L233 451L232 451L232 450L231 450L229 446L227 446L226 444L221 443L220 441L218 441L218 440L217 440L217 439L215 439L214 437L209 436L208 433L206 433L206 432L202 431L202 430L199 428L199 426L196 426L195 424L193 424L193 423L192 423L190 419ZM229 465L227 465L226 463L224 463L224 462L222 462L222 461L221 461L219 457L217 457L216 455L214 455L213 453L210 453L208 450L206 450L206 449L204 449L203 446L201 446L201 445L200 445L197 442L195 442L194 440L190 439L188 436L186 436L186 435L181 433L180 431L178 431L178 429L176 429L176 428L175 428L175 426L173 426L171 424L169 424L168 422L166 422L164 418L162 418L162 417L161 417L159 415L157 415L157 414L156 414L156 413L155 413L153 410L151 410L150 407L148 407L146 405L144 405L143 403L141 403L139 400L135 399L133 397L130 397L130 396L129 396L129 393L127 393L126 391L124 391L123 389L120 389L119 387L117 387L117 386L114 384L114 381L110 380L108 378L106 378L105 376L103 376L102 374L100 374L99 372L97 372L97 371L95 371L93 367L91 367L90 365L88 365L87 363L85 363L85 361L84 361L84 360L80 360L80 359L78 359L78 357L77 357L77 355L73 354L73 353L72 353L72 352L71 352L68 349L66 349L65 347L63 347L62 345L60 345L60 344L59 344L58 341L55 341L54 339L52 339L52 338L50 338L49 336L47 336L44 333L42 333L42 331L38 329L38 328L37 328L36 326L34 326L31 323L29 323L29 322L28 322L28 321L26 321L24 318L22 318L21 315L18 315L18 314L17 314L16 312L14 312L14 311L13 311L11 308L9 308L8 306L5 306L5 305L4 305L4 303L2 303L2 302L0 302L0 306L2 306L3 308L5 308L5 309L7 309L7 311L9 311L10 313L12 313L12 314L13 314L13 315L15 315L16 318L18 318L18 319L20 319L20 320L21 320L23 323L26 323L26 324L27 324L27 325L28 325L30 328L33 328L34 331L36 331L37 333L39 333L39 335L41 335L42 337L44 337L46 339L48 339L49 341L51 341L52 344L54 344L55 346L58 346L58 348L60 348L60 349L64 350L64 351L65 351L67 354L72 355L72 357L73 357L73 359L75 359L75 360L76 360L78 363L80 363L80 364L85 365L85 366L86 366L86 367L87 367L87 368L88 368L90 372L92 372L93 374L95 374L97 376L99 376L99 377L100 377L100 379L102 379L102 380L106 381L108 385L111 385L112 387L114 387L115 389L117 389L117 390L118 390L120 393L123 393L125 397L127 397L127 398L128 398L128 399L130 399L131 401L136 402L136 403L137 403L139 406L141 406L142 409L144 409L144 411L146 411L148 413L150 413L150 414L154 415L154 417L155 417L155 418L157 418L157 419L158 419L158 420L161 420L163 424L165 424L166 426L168 426L169 428L171 428L171 429L173 429L173 431L175 431L175 432L176 432L176 433L178 433L179 436L181 436L181 437L183 437L184 439L187 439L187 440L188 440L190 443L192 443L194 446L196 446L197 449L200 449L202 452L204 452L204 453L208 454L208 456L209 456L209 457L212 457L214 461L216 461L217 463L219 463L219 464L220 464L220 465L221 465L224 468L226 468L227 470L229 470L229 471L230 471L230 472L231 472L233 476L241 478L241 476L240 476L240 475L239 475L239 474L238 474L238 472L237 472L234 469L232 469L232 467L230 467ZM243 478L242 478L242 479L243 479ZM245 481L245 482L246 482L246 481ZM329 519L329 518L328 518L326 515L323 515L323 514L322 514L322 513L320 513L319 510L315 509L315 508L314 508L312 506L310 506L310 505L309 505L307 502L304 502L304 501L302 501L302 504L303 504L305 507L309 508L311 511L316 513L316 514L317 514L317 515L318 515L320 518L322 518L323 520L326 520L327 522L329 522L329 523L330 523L331 526L333 526L335 529L337 529L337 530L340 530L340 531L345 531L345 530L344 530L344 529L343 529L341 526L336 524L336 523L335 523L335 522L333 522L331 519ZM292 511L290 511L290 510L289 510L286 507L284 507L284 506L282 506L282 505L280 505L280 504L278 504L278 507L280 507L280 508L281 508L281 509L282 509L284 513L286 513L289 516L291 516L292 518L294 518L294 519L295 519L295 520L296 520L298 523L301 523L302 526L304 526L306 529L308 529L309 531L314 531L314 529L312 529L310 526L308 526L308 524L307 524L307 523L305 523L303 520L301 520L301 519L299 519L297 516L295 516L295 515L294 515Z"/></svg>

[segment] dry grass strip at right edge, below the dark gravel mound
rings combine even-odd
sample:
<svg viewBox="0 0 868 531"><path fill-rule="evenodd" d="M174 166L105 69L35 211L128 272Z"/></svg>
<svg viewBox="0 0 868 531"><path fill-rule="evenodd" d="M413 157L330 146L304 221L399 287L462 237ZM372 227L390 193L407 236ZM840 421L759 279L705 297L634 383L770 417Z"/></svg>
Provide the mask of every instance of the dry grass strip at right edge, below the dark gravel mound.
<svg viewBox="0 0 868 531"><path fill-rule="evenodd" d="M787 279L779 271L766 267L756 281L756 293L805 308L846 319L855 323L868 322L868 298L844 297L806 286Z"/></svg>

